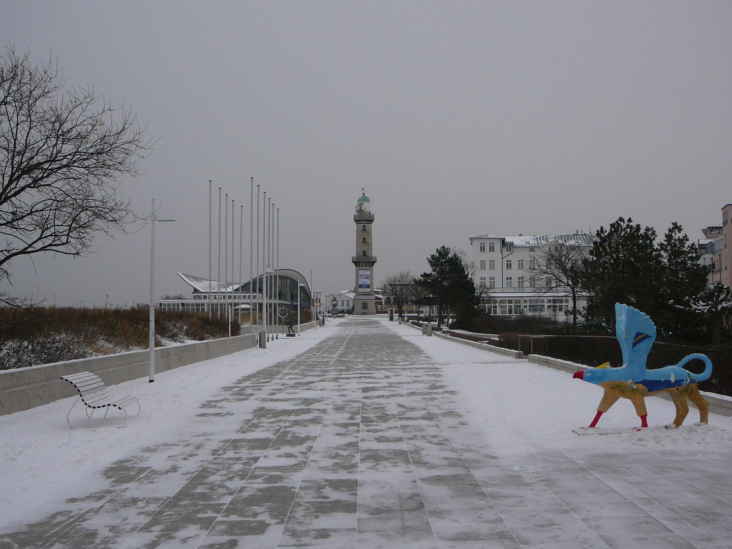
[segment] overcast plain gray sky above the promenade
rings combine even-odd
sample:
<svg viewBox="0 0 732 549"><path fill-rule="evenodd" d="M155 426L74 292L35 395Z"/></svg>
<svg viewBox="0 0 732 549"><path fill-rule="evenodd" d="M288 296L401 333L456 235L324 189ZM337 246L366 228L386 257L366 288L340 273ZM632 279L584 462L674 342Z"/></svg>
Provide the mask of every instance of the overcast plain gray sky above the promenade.
<svg viewBox="0 0 732 549"><path fill-rule="evenodd" d="M139 213L156 198L178 220L157 227L158 295L188 294L176 271L207 274L209 179L248 212L254 176L280 207L280 266L326 293L354 285L361 187L377 282L472 234L622 215L695 240L732 202L730 29L729 2L0 5L5 43L52 51L160 136L123 182ZM84 258L36 258L37 275L15 261L12 291L145 302L149 240L100 237Z"/></svg>

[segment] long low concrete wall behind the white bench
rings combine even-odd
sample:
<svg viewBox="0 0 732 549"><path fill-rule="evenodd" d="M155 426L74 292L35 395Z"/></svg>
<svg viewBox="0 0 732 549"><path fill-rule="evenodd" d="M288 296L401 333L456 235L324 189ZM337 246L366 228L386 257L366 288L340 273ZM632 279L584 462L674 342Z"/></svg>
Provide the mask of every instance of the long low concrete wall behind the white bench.
<svg viewBox="0 0 732 549"><path fill-rule="evenodd" d="M251 334L158 347L155 349L155 372L165 372L193 362L215 359L253 348L255 345L256 336ZM106 385L145 377L149 374L149 356L148 350L130 351L0 371L0 415L12 414L51 403L59 398L77 395L78 392L70 384L60 379L61 376L72 373L84 371L95 373Z"/></svg>

